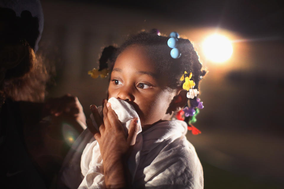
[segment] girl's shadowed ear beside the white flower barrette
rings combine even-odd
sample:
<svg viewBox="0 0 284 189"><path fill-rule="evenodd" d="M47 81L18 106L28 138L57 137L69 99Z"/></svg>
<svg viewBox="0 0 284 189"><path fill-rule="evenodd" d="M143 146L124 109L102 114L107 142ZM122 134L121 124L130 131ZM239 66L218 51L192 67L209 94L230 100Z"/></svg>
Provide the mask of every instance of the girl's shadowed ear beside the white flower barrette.
<svg viewBox="0 0 284 189"><path fill-rule="evenodd" d="M177 112L181 110L187 103L188 98L186 97L187 91L180 90L178 95L176 95L172 102L170 103L170 107L168 108L168 113L171 114L171 112Z"/></svg>

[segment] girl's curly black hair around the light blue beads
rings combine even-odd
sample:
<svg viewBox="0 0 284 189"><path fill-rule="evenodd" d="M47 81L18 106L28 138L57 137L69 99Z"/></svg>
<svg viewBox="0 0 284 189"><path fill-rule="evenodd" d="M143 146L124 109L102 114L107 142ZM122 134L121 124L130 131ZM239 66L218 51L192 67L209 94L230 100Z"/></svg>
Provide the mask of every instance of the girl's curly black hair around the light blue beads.
<svg viewBox="0 0 284 189"><path fill-rule="evenodd" d="M169 37L157 35L154 32L140 32L136 35L130 35L128 39L119 47L108 46L104 48L99 60L99 70L109 67L113 69L117 56L130 45L142 45L148 52L148 55L155 62L156 71L159 74L167 76L169 79L168 87L177 89L182 86L183 82L180 77L187 71L192 73L192 80L195 82L195 88L198 89L199 81L206 74L205 70L201 70L202 64L193 48L192 43L188 39L178 39L178 49L180 50L180 58L174 59L170 56L170 48L167 45ZM110 65L107 65L109 60Z"/></svg>

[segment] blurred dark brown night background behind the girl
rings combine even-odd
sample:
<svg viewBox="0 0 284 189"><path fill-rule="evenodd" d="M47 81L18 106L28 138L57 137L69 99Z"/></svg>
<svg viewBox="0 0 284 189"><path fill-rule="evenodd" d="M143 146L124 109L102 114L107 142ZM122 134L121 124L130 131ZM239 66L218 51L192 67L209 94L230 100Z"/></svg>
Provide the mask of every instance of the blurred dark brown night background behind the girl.
<svg viewBox="0 0 284 189"><path fill-rule="evenodd" d="M209 72L205 108L188 132L204 168L204 188L282 188L284 8L281 1L47 1L40 53L56 75L48 97L78 96L86 115L106 97L107 79L91 79L101 48L157 28L194 42ZM206 60L201 42L227 35L232 57Z"/></svg>

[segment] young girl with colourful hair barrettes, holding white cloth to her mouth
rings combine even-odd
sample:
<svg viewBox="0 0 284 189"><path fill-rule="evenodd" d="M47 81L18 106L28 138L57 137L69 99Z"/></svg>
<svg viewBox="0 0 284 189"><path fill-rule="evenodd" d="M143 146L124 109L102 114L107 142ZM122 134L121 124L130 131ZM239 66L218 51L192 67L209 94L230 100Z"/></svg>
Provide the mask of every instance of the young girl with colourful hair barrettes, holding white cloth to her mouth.
<svg viewBox="0 0 284 189"><path fill-rule="evenodd" d="M199 102L193 98L206 72L190 41L176 32L171 36L169 40L156 30L131 36L118 49L105 48L100 69L89 73L103 76L109 60L109 101L103 101L102 115L91 106L96 123L87 120L96 141L84 132L79 137L81 146L89 142L81 157L79 188L203 188L202 166L185 137L187 123L170 119L188 97ZM80 155L74 153L73 167ZM70 164L65 170L72 171ZM65 185L73 188L75 179Z"/></svg>

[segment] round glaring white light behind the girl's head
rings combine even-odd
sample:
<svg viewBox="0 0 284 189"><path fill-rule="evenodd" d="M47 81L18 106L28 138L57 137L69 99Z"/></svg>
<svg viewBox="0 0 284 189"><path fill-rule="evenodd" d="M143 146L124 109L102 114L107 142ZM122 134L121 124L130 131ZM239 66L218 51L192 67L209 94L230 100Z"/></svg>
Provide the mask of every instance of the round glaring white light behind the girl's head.
<svg viewBox="0 0 284 189"><path fill-rule="evenodd" d="M225 36L214 34L204 40L203 51L212 62L224 62L232 56L233 46Z"/></svg>

